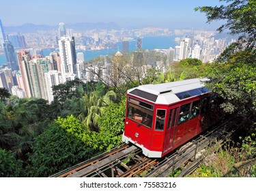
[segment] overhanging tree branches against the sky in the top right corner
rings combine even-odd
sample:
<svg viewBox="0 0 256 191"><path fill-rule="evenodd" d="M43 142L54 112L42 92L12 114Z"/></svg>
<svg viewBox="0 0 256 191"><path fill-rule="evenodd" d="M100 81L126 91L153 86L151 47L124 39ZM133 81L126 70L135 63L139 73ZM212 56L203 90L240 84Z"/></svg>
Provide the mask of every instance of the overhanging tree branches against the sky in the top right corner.
<svg viewBox="0 0 256 191"><path fill-rule="evenodd" d="M220 0L225 1L225 5L210 7L197 7L195 10L204 12L207 22L214 20L225 20L217 30L219 32L228 29L232 35L240 35L236 48L244 48L246 43L248 48L255 48L256 39L256 1L255 0ZM234 50L234 49L233 49Z"/></svg>

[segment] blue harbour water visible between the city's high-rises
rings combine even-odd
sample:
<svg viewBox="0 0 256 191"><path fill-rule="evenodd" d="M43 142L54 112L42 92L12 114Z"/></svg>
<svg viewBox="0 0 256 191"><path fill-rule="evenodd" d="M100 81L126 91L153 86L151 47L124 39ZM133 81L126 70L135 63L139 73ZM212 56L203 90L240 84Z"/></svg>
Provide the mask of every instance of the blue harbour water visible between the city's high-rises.
<svg viewBox="0 0 256 191"><path fill-rule="evenodd" d="M171 35L171 36L146 36L141 38L142 39L142 49L168 49L170 47L175 48L177 45L175 43L175 38L178 37L177 35ZM136 46L137 42L136 40L129 42L129 52L132 53L137 49ZM89 61L91 59L95 59L96 57L100 57L100 55L113 55L117 51L122 52L122 42L117 43L117 46L115 48L106 48L101 50L77 50L76 53L83 53L85 61ZM43 56L46 57L50 55L51 52L55 51L54 48L45 48L42 49ZM3 63L6 63L5 55L0 55L0 65L3 65Z"/></svg>

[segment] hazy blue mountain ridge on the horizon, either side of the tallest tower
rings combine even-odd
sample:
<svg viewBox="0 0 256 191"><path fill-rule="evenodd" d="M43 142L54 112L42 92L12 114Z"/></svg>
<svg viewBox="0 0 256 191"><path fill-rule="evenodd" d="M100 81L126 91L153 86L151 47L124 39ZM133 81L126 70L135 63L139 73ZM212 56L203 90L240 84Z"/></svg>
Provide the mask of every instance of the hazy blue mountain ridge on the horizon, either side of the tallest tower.
<svg viewBox="0 0 256 191"><path fill-rule="evenodd" d="M74 29L76 31L86 31L91 29L121 29L116 23L76 23L76 24L65 24L66 29ZM53 29L58 29L59 25L49 26L49 25L34 25L27 23L17 27L3 27L5 33L36 33L36 31L51 31Z"/></svg>

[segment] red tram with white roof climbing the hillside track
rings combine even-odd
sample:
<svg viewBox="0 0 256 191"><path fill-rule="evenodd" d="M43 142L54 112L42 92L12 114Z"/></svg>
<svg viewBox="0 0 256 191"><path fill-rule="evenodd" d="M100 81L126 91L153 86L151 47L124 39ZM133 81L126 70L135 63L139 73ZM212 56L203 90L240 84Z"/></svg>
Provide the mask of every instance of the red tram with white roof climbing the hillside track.
<svg viewBox="0 0 256 191"><path fill-rule="evenodd" d="M161 158L210 125L214 104L199 78L129 89L122 141Z"/></svg>

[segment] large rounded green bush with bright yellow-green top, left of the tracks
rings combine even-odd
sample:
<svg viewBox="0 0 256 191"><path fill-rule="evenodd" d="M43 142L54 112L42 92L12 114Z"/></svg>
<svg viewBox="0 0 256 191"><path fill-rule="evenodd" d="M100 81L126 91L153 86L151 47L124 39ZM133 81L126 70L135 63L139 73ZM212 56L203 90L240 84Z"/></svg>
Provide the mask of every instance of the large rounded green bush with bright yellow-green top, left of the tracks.
<svg viewBox="0 0 256 191"><path fill-rule="evenodd" d="M70 115L59 117L35 138L29 154L29 177L48 177L74 164L91 158L98 148L89 130Z"/></svg>

